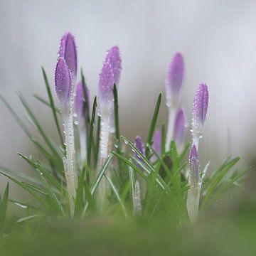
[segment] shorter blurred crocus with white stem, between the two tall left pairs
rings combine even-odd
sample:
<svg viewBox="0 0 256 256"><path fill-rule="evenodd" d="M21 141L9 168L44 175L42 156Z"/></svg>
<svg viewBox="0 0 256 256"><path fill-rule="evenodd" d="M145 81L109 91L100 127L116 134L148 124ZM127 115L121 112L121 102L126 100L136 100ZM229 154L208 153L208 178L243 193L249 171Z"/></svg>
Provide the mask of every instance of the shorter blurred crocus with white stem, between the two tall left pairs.
<svg viewBox="0 0 256 256"><path fill-rule="evenodd" d="M90 92L88 87L86 87L86 94L87 94L87 100L88 100L88 106L89 106ZM87 146L86 146L87 138L86 138L86 125L85 125L85 114L84 114L84 92L82 89L82 81L78 82L76 93L75 93L75 114L78 118L81 163L82 163L82 166L84 166L87 159Z"/></svg>

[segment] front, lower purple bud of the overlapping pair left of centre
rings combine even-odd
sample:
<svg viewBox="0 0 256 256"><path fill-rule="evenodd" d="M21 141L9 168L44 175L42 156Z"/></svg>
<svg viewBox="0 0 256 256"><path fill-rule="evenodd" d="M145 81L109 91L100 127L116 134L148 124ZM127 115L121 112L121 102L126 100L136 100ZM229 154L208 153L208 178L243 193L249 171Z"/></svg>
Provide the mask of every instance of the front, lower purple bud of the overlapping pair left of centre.
<svg viewBox="0 0 256 256"><path fill-rule="evenodd" d="M100 73L98 105L99 114L109 118L114 100L113 94L114 75L110 63L104 63Z"/></svg>

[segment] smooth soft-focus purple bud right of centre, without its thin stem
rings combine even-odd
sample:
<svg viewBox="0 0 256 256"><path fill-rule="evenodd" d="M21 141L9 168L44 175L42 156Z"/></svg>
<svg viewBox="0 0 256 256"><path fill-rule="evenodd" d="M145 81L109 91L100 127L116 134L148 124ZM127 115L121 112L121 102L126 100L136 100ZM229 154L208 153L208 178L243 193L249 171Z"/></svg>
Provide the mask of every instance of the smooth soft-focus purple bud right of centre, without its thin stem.
<svg viewBox="0 0 256 256"><path fill-rule="evenodd" d="M177 107L184 75L184 63L181 53L172 58L166 74L166 105Z"/></svg>

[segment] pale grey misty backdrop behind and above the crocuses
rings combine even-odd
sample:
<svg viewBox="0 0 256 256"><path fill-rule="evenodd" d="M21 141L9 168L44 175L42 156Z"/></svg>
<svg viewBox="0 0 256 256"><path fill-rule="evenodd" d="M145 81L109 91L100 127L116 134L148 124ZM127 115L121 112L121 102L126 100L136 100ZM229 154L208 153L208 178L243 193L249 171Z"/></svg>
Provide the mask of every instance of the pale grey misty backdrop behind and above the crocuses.
<svg viewBox="0 0 256 256"><path fill-rule="evenodd" d="M157 94L164 92L166 66L180 51L186 62L182 101L188 121L198 84L206 82L210 90L201 165L210 159L215 166L229 154L239 154L248 165L256 144L255 24L254 0L0 0L0 93L26 118L16 95L23 92L43 127L58 138L50 111L31 96L46 97L41 65L53 86L58 44L71 31L79 66L95 95L105 52L118 45L121 132L132 140L136 135L146 139ZM166 114L163 97L159 125ZM29 169L16 152L38 153L2 103L0 130L1 166Z"/></svg>

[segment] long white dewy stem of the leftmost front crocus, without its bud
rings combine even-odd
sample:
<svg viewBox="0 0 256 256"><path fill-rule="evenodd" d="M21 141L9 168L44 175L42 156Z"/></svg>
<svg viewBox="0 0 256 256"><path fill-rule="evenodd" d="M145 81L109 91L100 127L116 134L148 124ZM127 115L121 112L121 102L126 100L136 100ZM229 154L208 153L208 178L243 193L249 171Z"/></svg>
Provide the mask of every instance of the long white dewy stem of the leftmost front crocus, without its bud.
<svg viewBox="0 0 256 256"><path fill-rule="evenodd" d="M65 146L66 157L64 160L65 177L67 180L68 196L70 201L70 212L74 213L75 189L77 184L77 175L75 174L75 143L74 143L74 128L73 128L73 111L63 114L64 131L65 131Z"/></svg>

